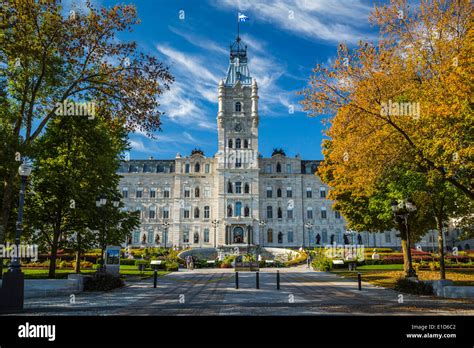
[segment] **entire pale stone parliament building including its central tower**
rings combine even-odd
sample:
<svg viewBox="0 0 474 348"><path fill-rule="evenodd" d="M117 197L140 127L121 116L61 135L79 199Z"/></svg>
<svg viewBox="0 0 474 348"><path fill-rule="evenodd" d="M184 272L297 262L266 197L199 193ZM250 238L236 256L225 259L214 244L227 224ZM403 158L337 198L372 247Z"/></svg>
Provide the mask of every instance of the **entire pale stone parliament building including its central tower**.
<svg viewBox="0 0 474 348"><path fill-rule="evenodd" d="M213 157L193 151L172 160L122 163L126 208L141 211L133 246L300 247L353 238L366 246L399 247L394 231L345 237L345 221L327 199L329 188L315 175L320 160L282 152L260 156L258 86L240 39L231 46L217 98L218 151Z"/></svg>

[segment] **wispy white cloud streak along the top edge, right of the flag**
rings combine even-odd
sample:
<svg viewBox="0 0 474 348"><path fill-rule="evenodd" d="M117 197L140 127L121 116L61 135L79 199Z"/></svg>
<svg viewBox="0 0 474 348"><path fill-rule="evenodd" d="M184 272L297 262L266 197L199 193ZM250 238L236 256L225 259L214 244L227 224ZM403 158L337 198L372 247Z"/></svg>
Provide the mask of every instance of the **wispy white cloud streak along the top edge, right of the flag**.
<svg viewBox="0 0 474 348"><path fill-rule="evenodd" d="M274 24L310 39L356 43L367 37L370 6L360 0L220 0L216 7L245 11L250 20Z"/></svg>

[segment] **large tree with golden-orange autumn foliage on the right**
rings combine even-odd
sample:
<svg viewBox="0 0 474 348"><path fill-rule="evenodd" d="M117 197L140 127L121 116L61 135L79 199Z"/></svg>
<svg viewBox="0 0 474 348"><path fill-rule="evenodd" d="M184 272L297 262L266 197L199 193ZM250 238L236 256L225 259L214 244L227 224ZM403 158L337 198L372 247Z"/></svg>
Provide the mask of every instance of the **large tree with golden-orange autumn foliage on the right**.
<svg viewBox="0 0 474 348"><path fill-rule="evenodd" d="M302 104L335 114L319 174L336 205L367 201L407 164L474 198L472 19L468 0L392 0L370 17L376 44L341 44L334 66L313 69Z"/></svg>

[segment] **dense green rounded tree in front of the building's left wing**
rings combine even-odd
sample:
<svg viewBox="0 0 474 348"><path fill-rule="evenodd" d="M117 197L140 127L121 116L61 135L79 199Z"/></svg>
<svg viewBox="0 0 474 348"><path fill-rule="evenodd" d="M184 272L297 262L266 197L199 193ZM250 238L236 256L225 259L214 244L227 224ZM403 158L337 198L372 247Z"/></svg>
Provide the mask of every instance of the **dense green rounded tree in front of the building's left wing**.
<svg viewBox="0 0 474 348"><path fill-rule="evenodd" d="M71 235L88 239L97 197L118 195L116 172L126 146L120 121L111 127L101 114L94 119L56 118L38 139L25 227L51 251L49 277L54 278L58 250L67 246Z"/></svg>

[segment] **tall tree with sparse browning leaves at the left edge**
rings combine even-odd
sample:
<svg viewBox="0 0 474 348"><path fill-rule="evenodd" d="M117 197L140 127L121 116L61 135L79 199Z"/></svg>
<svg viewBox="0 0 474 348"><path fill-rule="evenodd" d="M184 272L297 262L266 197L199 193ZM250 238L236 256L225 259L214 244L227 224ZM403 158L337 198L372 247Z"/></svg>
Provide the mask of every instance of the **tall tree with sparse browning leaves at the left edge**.
<svg viewBox="0 0 474 348"><path fill-rule="evenodd" d="M65 16L60 0L1 1L0 116L8 118L2 119L7 142L2 139L0 148L0 243L15 205L14 156L32 155L34 143L58 117L58 103L106 102L109 121L121 119L128 130L147 134L160 128L158 98L173 77L135 42L117 39L139 23L135 7L98 9L90 1L85 6Z"/></svg>

